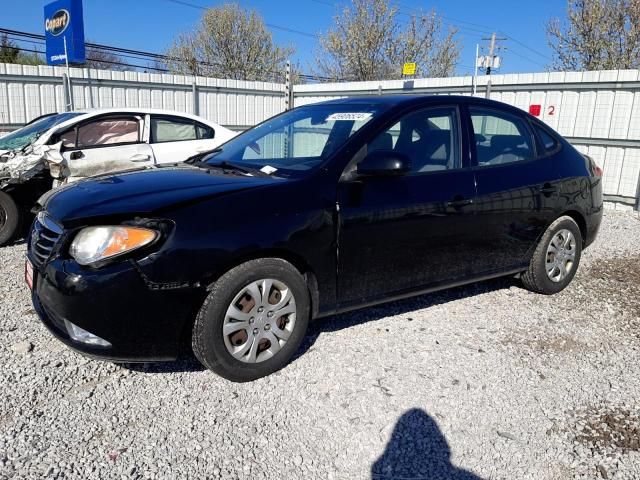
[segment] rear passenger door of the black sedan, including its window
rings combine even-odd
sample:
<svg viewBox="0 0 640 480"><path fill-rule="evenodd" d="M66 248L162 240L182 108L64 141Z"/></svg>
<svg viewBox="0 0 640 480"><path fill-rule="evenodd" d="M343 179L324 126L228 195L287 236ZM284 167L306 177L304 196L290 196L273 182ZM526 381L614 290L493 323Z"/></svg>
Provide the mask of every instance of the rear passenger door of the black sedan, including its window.
<svg viewBox="0 0 640 480"><path fill-rule="evenodd" d="M475 212L482 225L476 266L483 273L524 266L553 219L557 168L536 146L524 115L473 105L469 114L475 138Z"/></svg>

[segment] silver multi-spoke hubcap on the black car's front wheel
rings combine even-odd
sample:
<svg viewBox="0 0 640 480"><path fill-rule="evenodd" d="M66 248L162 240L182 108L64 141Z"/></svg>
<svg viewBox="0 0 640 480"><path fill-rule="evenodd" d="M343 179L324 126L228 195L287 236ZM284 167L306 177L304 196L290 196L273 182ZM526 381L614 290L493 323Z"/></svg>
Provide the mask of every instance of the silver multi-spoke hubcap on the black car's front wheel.
<svg viewBox="0 0 640 480"><path fill-rule="evenodd" d="M258 280L242 288L227 308L224 344L241 362L264 362L287 343L295 323L291 289L272 278Z"/></svg>

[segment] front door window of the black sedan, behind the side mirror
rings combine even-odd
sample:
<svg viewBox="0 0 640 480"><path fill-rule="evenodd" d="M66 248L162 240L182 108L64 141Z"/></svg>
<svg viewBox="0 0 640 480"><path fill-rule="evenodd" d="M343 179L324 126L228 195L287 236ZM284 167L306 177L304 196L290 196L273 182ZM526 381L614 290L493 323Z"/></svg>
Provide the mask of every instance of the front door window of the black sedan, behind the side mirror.
<svg viewBox="0 0 640 480"><path fill-rule="evenodd" d="M452 107L409 113L369 142L367 153L402 153L409 158L414 174L459 168L457 118Z"/></svg>

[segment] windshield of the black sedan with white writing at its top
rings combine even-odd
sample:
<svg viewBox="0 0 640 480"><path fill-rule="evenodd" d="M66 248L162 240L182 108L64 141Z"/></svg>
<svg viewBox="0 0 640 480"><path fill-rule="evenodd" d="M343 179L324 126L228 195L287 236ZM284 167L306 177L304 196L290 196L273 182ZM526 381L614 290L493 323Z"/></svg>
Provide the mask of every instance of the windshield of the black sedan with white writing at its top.
<svg viewBox="0 0 640 480"><path fill-rule="evenodd" d="M299 107L235 137L204 161L210 165L224 161L267 174L304 175L321 165L382 108L379 104Z"/></svg>

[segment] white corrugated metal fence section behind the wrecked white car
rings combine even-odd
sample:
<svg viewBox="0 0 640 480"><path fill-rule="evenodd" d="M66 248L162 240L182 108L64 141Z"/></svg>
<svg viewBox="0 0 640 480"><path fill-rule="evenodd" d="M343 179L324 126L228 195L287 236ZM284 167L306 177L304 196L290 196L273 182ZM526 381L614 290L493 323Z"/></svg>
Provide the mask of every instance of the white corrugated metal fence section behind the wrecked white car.
<svg viewBox="0 0 640 480"><path fill-rule="evenodd" d="M280 113L285 105L284 85L277 83L81 68L70 72L75 109L164 108L245 129ZM64 111L65 73L61 67L0 64L0 131Z"/></svg>

